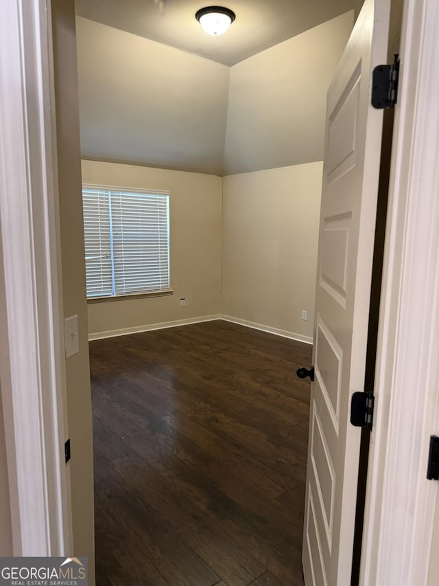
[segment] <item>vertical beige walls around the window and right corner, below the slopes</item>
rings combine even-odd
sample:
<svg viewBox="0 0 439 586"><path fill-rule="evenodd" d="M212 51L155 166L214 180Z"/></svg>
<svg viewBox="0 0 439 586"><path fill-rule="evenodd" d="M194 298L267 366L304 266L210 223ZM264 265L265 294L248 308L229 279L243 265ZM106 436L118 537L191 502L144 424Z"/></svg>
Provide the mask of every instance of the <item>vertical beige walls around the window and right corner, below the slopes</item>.
<svg viewBox="0 0 439 586"><path fill-rule="evenodd" d="M82 179L171 194L174 295L89 302L91 337L219 313L312 337L321 162L222 179L82 161Z"/></svg>

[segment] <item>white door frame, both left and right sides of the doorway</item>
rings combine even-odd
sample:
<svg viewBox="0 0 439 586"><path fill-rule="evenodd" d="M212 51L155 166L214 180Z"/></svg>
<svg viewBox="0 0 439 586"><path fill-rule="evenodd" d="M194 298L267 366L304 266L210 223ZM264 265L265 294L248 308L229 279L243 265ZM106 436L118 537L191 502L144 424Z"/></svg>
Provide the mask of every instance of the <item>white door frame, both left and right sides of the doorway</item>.
<svg viewBox="0 0 439 586"><path fill-rule="evenodd" d="M49 19L49 20L47 20ZM439 4L406 0L361 583L426 583L439 433ZM1 392L14 554L71 547L50 2L0 2ZM13 205L11 205L11 203ZM4 350L7 350L6 352ZM416 401L414 401L416 397Z"/></svg>

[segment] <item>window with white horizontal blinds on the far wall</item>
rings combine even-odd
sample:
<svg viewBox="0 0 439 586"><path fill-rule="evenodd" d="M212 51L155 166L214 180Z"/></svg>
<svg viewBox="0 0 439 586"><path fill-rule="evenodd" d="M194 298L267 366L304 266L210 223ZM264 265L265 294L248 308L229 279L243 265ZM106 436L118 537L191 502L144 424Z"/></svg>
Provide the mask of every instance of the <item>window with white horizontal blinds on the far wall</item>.
<svg viewBox="0 0 439 586"><path fill-rule="evenodd" d="M87 297L169 291L169 194L82 188Z"/></svg>

